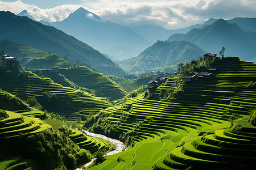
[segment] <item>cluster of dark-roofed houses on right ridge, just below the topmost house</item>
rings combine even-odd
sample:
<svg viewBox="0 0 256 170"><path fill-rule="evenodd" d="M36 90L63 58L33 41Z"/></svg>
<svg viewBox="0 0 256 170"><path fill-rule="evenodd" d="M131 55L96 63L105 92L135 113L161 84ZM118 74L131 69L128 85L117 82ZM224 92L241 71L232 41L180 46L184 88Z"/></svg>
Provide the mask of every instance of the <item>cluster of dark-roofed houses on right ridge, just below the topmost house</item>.
<svg viewBox="0 0 256 170"><path fill-rule="evenodd" d="M183 82L203 82L204 79L213 79L213 73L216 73L217 68L208 69L209 72L202 71L200 73L193 71L189 75L181 76Z"/></svg>

